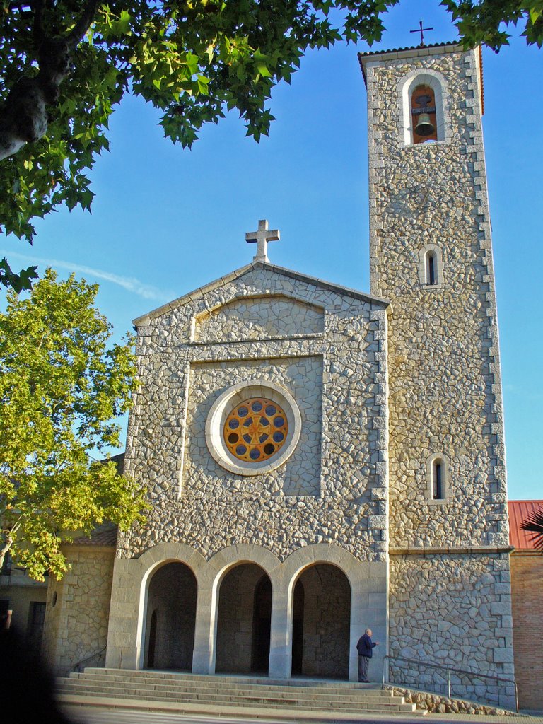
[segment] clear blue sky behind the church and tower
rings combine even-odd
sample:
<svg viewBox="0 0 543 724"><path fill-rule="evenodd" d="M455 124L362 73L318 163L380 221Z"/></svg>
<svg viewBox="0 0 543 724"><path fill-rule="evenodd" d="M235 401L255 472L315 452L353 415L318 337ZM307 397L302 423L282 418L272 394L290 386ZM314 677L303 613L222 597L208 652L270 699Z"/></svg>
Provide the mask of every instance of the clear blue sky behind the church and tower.
<svg viewBox="0 0 543 724"><path fill-rule="evenodd" d="M437 0L402 0L373 49L416 45L409 30L421 19L434 27L427 43L456 38ZM92 214L38 220L33 248L0 236L0 255L99 282L98 306L118 339L140 314L251 261L245 232L258 219L281 231L269 246L274 264L369 291L363 50L308 54L292 84L274 91L277 120L260 144L230 114L183 151L164 140L151 106L126 98L111 120L111 152L91 174ZM483 56L509 497L541 499L543 51L513 38Z"/></svg>

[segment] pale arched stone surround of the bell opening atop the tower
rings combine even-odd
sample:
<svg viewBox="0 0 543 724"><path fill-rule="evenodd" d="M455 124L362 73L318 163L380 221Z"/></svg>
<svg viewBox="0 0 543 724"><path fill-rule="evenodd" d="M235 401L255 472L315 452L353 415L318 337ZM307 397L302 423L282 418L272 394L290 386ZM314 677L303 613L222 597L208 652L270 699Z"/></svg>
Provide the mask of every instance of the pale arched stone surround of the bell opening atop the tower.
<svg viewBox="0 0 543 724"><path fill-rule="evenodd" d="M398 98L398 132L403 146L413 146L413 129L411 127L411 94L417 85L429 85L434 90L436 100L437 143L448 143L451 140L450 122L448 118L449 93L447 79L442 73L430 68L411 70L397 85ZM415 144L424 146L424 143Z"/></svg>

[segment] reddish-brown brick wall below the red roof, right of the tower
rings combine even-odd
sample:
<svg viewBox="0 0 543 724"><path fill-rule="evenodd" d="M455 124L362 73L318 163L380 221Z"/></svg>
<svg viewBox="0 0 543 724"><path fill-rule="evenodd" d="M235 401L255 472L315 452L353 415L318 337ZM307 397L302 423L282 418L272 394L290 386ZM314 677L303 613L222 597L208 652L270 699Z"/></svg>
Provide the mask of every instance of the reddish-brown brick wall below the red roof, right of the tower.
<svg viewBox="0 0 543 724"><path fill-rule="evenodd" d="M515 551L510 561L519 707L543 710L543 555L534 551Z"/></svg>

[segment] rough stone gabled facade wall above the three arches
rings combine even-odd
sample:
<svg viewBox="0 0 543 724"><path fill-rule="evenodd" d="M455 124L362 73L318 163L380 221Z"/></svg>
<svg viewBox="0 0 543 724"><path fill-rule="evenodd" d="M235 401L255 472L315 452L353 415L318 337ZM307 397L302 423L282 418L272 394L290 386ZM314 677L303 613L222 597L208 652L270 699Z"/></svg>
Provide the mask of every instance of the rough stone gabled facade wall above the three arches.
<svg viewBox="0 0 543 724"><path fill-rule="evenodd" d="M277 297L283 305L292 300L292 336L232 339L245 335L237 300L262 310L267 295L271 319ZM386 306L257 263L136 320L141 388L130 414L125 472L146 485L153 508L145 527L119 536L117 555L184 542L210 557L248 542L285 558L306 544L334 542L361 560L384 560ZM324 332L316 334L314 315L300 317L300 308L322 308ZM190 341L194 319L206 310L213 310L225 341ZM245 477L215 463L203 426L225 388L254 376L294 395L302 434L283 466Z"/></svg>

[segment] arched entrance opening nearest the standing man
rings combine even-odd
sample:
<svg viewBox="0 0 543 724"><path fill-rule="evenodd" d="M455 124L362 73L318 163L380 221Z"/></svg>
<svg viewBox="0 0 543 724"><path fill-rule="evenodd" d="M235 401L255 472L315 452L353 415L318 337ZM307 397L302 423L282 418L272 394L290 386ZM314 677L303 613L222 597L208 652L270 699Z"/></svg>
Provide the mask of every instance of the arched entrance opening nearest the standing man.
<svg viewBox="0 0 543 724"><path fill-rule="evenodd" d="M340 568L316 563L292 599L292 676L349 678L350 584Z"/></svg>

